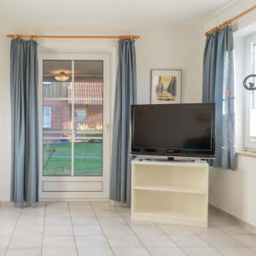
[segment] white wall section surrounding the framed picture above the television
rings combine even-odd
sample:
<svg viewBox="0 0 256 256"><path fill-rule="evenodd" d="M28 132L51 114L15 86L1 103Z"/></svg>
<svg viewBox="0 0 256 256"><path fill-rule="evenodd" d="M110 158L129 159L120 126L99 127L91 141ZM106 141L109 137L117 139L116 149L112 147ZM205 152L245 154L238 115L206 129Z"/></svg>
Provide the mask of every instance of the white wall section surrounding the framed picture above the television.
<svg viewBox="0 0 256 256"><path fill-rule="evenodd" d="M143 31L137 42L137 85L139 103L149 103L150 69L183 70L183 102L201 102L203 30L198 28Z"/></svg>

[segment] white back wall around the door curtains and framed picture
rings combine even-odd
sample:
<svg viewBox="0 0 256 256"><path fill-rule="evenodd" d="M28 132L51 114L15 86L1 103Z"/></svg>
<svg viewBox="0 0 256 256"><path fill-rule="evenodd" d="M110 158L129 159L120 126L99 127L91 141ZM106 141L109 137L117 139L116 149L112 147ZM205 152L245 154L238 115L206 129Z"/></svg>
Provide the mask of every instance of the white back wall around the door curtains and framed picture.
<svg viewBox="0 0 256 256"><path fill-rule="evenodd" d="M5 38L6 33L0 36L0 201L9 201L10 190L9 39ZM138 103L149 102L152 68L183 69L183 102L201 102L202 28L148 27L129 33L141 36L136 43ZM51 39L38 43L40 53L113 52L117 45L115 40Z"/></svg>

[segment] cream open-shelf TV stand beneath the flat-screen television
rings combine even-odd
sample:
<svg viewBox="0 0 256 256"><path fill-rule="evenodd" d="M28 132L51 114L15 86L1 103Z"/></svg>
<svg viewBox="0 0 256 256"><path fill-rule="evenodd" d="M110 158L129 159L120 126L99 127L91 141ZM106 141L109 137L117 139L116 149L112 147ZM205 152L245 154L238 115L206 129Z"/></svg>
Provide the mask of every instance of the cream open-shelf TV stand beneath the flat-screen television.
<svg viewBox="0 0 256 256"><path fill-rule="evenodd" d="M206 161L131 161L131 218L207 226Z"/></svg>

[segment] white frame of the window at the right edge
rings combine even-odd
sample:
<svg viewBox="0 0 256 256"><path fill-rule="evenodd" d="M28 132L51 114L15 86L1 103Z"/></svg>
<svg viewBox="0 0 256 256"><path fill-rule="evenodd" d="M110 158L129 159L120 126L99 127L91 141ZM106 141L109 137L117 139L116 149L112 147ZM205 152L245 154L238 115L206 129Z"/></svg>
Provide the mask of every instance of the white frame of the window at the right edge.
<svg viewBox="0 0 256 256"><path fill-rule="evenodd" d="M246 75L253 73L252 67L252 44L256 44L256 34L254 33L246 39ZM256 51L256 47L255 47ZM256 52L254 53L254 55ZM255 63L255 62L254 62ZM255 68L255 67L254 67ZM256 100L256 91L253 92ZM244 146L246 149L256 150L256 137L250 137L250 109L251 109L252 91L245 90L245 139Z"/></svg>

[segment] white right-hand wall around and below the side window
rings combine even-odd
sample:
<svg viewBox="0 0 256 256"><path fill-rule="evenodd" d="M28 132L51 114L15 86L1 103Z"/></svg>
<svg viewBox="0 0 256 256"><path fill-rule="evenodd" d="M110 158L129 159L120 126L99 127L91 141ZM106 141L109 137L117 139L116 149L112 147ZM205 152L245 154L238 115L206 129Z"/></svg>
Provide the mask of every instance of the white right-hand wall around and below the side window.
<svg viewBox="0 0 256 256"><path fill-rule="evenodd" d="M254 0L239 1L229 9L216 15L207 23L206 30L228 20L255 4ZM256 12L246 15L235 25L234 42L236 52L236 145L243 148L244 134L244 89L242 79L246 75L245 37L256 32ZM256 226L256 159L237 156L237 170L212 169L210 172L210 203L225 212Z"/></svg>

